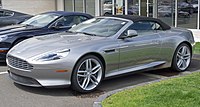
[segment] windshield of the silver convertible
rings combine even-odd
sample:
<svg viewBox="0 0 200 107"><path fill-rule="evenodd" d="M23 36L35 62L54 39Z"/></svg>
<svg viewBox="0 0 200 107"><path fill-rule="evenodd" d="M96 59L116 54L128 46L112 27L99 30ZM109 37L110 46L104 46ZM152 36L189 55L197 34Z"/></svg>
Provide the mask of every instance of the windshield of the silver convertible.
<svg viewBox="0 0 200 107"><path fill-rule="evenodd" d="M127 21L112 18L93 18L71 28L70 32L108 37L116 34Z"/></svg>

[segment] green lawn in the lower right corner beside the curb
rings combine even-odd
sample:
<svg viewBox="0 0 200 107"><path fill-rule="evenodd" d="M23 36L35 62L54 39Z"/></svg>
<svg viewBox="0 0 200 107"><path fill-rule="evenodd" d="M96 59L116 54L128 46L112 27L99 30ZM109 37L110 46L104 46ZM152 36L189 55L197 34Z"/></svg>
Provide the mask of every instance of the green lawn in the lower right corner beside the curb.
<svg viewBox="0 0 200 107"><path fill-rule="evenodd" d="M103 107L200 107L200 73L116 93Z"/></svg>

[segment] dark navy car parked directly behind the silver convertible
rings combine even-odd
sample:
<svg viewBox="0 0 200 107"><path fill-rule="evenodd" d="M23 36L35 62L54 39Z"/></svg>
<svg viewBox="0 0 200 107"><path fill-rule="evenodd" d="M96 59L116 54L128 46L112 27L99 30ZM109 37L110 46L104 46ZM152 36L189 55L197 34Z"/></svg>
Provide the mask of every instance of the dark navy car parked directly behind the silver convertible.
<svg viewBox="0 0 200 107"><path fill-rule="evenodd" d="M72 26L93 18L79 12L52 11L36 15L21 24L0 28L0 62L4 62L7 51L19 42L46 34L67 31Z"/></svg>

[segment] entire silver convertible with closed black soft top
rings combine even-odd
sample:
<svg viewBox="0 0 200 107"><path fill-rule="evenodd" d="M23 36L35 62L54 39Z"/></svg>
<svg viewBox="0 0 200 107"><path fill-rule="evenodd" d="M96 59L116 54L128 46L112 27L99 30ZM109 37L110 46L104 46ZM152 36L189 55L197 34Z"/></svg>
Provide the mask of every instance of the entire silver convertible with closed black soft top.
<svg viewBox="0 0 200 107"><path fill-rule="evenodd" d="M10 78L33 87L71 86L95 90L120 74L171 67L185 71L191 62L191 31L139 16L97 17L68 32L34 37L7 54Z"/></svg>

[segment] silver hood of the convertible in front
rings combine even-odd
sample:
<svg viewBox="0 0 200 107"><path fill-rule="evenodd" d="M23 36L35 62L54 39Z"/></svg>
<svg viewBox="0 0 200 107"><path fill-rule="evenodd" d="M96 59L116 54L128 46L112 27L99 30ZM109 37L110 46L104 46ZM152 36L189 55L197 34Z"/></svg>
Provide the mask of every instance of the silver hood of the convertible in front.
<svg viewBox="0 0 200 107"><path fill-rule="evenodd" d="M27 59L46 52L55 52L63 49L86 46L103 39L105 39L105 37L72 33L45 35L22 41L14 46L8 54Z"/></svg>

